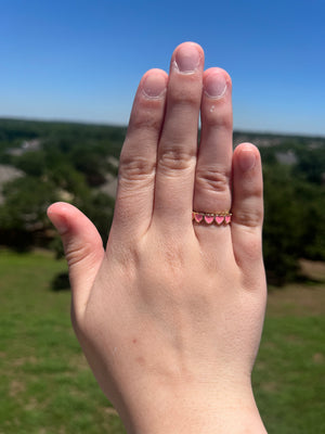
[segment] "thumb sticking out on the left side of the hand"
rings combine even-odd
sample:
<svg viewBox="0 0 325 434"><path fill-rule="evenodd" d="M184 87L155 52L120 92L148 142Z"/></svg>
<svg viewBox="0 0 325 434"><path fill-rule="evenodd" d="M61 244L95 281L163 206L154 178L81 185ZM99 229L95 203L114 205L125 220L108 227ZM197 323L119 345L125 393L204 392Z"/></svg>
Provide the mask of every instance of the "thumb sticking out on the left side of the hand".
<svg viewBox="0 0 325 434"><path fill-rule="evenodd" d="M48 216L61 235L74 308L81 314L104 257L101 235L84 214L67 203L54 203L48 208Z"/></svg>

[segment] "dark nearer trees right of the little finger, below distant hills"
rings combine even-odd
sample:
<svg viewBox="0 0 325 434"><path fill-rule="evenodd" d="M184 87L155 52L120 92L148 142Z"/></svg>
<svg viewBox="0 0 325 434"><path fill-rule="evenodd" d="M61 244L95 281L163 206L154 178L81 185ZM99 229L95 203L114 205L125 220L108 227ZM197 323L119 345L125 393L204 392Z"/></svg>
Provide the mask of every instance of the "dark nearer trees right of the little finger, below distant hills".
<svg viewBox="0 0 325 434"><path fill-rule="evenodd" d="M290 167L264 167L264 261L269 281L299 276L299 259L325 260L324 187L297 179Z"/></svg>

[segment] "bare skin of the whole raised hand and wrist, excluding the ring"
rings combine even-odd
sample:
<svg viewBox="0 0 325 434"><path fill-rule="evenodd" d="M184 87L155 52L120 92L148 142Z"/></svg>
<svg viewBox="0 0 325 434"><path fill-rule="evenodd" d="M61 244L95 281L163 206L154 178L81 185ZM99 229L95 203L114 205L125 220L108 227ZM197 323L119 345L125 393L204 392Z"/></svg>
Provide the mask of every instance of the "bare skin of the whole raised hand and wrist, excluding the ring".
<svg viewBox="0 0 325 434"><path fill-rule="evenodd" d="M250 382L266 301L261 162L252 144L233 152L231 91L182 43L169 75L139 85L106 250L77 208L48 210L76 334L128 433L265 432ZM232 224L195 224L192 209L231 209Z"/></svg>

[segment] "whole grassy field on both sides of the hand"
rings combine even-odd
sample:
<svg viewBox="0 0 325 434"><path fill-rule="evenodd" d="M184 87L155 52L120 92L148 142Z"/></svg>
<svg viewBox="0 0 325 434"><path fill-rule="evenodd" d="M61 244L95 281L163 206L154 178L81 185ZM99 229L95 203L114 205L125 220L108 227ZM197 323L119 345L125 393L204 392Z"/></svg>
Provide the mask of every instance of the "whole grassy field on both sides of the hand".
<svg viewBox="0 0 325 434"><path fill-rule="evenodd" d="M325 278L324 266L312 271ZM0 251L0 433L125 433L69 322L66 270L50 254ZM269 433L325 432L325 285L272 290L253 373Z"/></svg>

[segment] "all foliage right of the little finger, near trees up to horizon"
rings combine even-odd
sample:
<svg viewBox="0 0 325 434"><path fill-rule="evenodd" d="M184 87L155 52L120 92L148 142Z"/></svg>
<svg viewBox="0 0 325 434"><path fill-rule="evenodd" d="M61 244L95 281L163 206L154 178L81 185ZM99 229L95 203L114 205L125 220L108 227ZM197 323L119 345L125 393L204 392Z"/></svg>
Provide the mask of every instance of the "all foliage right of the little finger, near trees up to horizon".
<svg viewBox="0 0 325 434"><path fill-rule="evenodd" d="M300 276L299 259L325 260L325 140L284 138L261 148L264 174L264 261L278 285ZM290 152L296 163L280 164Z"/></svg>

